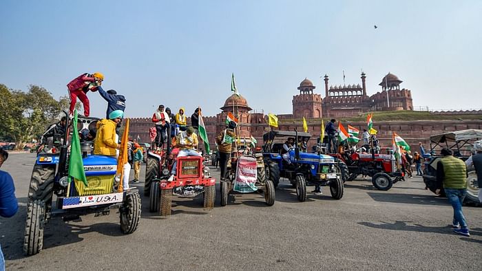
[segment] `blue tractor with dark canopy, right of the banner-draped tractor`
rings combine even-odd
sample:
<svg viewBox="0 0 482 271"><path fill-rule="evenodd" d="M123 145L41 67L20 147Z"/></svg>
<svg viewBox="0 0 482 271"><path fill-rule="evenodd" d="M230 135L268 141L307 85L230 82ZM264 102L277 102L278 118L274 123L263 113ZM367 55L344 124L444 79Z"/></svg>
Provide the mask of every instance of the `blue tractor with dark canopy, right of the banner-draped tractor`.
<svg viewBox="0 0 482 271"><path fill-rule="evenodd" d="M284 150L283 144L294 138L294 147ZM263 135L263 157L266 176L277 186L284 177L296 188L297 199L306 201L306 186L330 186L331 197L343 197L342 174L335 158L330 155L300 152L298 138L311 138L310 133L269 131ZM289 162L283 159L289 157Z"/></svg>

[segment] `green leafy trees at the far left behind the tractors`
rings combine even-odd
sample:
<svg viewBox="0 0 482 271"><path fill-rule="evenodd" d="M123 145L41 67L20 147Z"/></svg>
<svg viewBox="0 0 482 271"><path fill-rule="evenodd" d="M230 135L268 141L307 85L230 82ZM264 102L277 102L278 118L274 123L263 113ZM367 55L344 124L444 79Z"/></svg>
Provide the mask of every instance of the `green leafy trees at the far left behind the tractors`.
<svg viewBox="0 0 482 271"><path fill-rule="evenodd" d="M18 148L38 138L70 104L67 96L57 101L47 89L36 85L30 85L25 93L0 84L0 97L0 138L11 139Z"/></svg>

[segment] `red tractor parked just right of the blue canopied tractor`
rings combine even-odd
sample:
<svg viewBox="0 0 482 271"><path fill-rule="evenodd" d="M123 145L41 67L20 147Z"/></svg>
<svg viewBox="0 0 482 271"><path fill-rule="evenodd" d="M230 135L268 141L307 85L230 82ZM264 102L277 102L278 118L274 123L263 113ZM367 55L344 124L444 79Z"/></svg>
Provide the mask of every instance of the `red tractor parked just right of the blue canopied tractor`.
<svg viewBox="0 0 482 271"><path fill-rule="evenodd" d="M393 184L404 178L404 172L399 169L395 156L391 153L334 153L331 156L338 159L344 182L355 180L358 175L372 177L373 186L378 190L387 191Z"/></svg>

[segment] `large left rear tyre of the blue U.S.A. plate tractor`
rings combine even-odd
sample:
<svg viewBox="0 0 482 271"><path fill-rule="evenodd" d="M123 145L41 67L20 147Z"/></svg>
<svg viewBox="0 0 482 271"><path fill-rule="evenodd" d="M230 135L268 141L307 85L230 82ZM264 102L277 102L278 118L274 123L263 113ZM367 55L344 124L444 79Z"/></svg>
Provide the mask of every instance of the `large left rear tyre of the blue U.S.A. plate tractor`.
<svg viewBox="0 0 482 271"><path fill-rule="evenodd" d="M35 164L28 187L28 202L41 200L45 203L45 223L50 219L52 211L52 195L54 194L55 165Z"/></svg>

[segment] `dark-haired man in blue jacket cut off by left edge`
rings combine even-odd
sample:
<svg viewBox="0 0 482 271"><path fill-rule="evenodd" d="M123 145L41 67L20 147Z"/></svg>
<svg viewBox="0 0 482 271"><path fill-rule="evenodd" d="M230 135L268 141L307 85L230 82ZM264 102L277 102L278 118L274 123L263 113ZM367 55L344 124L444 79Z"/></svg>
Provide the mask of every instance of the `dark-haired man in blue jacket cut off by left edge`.
<svg viewBox="0 0 482 271"><path fill-rule="evenodd" d="M0 167L7 160L8 152L0 149ZM0 171L0 217L12 217L19 210L13 179L6 171ZM5 270L5 259L0 246L0 270Z"/></svg>

